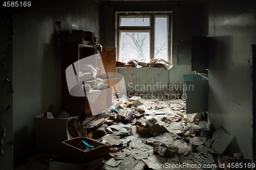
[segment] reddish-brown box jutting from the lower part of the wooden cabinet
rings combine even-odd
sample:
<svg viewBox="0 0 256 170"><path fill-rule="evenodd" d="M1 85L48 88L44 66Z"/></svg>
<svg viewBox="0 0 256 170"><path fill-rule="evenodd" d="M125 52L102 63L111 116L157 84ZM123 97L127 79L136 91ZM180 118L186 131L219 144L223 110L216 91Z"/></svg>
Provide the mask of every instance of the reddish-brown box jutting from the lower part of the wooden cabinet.
<svg viewBox="0 0 256 170"><path fill-rule="evenodd" d="M112 87L90 94L87 93L85 105L88 107L86 115L91 113L92 115L102 113L103 110L112 106Z"/></svg>

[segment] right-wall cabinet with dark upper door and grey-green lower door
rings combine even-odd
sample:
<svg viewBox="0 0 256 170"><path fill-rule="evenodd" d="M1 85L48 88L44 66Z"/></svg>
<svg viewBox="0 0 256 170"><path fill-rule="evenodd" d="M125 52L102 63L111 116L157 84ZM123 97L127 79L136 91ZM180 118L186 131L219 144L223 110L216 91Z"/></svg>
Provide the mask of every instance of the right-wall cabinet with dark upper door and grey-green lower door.
<svg viewBox="0 0 256 170"><path fill-rule="evenodd" d="M208 111L208 78L197 70L208 69L209 37L192 37L191 70L195 74L183 76L183 101L186 101L186 113Z"/></svg>

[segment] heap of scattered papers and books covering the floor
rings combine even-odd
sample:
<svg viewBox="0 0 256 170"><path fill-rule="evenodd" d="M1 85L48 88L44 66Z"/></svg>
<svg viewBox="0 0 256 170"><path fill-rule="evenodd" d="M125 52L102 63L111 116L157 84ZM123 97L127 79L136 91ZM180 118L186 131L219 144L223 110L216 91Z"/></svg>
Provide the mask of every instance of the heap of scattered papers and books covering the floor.
<svg viewBox="0 0 256 170"><path fill-rule="evenodd" d="M69 138L62 143L74 143L71 150L83 151L74 154L77 152L74 150L70 154L71 150L65 148L62 152L80 160L80 163L76 162L77 167L87 163L89 169L100 166L102 169L144 169L144 166L152 169L216 169L226 168L224 163L239 161L238 158L225 160L226 157L220 155L233 136L227 135L222 127L214 133L208 131L206 114L185 114L186 105L182 100L142 99L139 96L127 99L123 95L113 99L113 103L111 108L96 116L71 116L68 110L57 116L57 119L67 119L66 127L67 122L69 124L65 131ZM41 117L56 119L51 113L43 113ZM49 124L47 126L49 128ZM224 136L225 143L221 142ZM105 154L103 158L102 153ZM89 166L85 160L92 161L92 157L95 160ZM66 160L59 159L53 159L50 166ZM244 160L241 154L239 159L250 161ZM72 166L76 164L73 162Z"/></svg>

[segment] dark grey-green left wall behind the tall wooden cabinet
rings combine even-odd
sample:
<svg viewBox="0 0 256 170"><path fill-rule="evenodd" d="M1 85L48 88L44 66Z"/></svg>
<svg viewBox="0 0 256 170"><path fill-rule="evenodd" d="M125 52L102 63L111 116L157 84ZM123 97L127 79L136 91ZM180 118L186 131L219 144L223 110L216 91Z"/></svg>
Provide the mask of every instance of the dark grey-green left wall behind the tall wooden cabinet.
<svg viewBox="0 0 256 170"><path fill-rule="evenodd" d="M100 5L94 0L40 1L33 8L13 15L16 158L34 149L33 117L47 112L50 105L55 116L61 112L60 40L65 41L72 29L82 29L95 32L100 42L99 18ZM55 26L56 21L60 25Z"/></svg>

